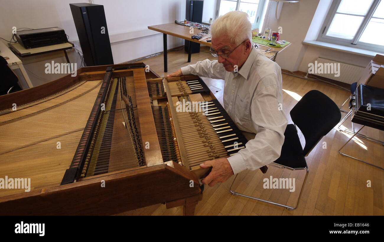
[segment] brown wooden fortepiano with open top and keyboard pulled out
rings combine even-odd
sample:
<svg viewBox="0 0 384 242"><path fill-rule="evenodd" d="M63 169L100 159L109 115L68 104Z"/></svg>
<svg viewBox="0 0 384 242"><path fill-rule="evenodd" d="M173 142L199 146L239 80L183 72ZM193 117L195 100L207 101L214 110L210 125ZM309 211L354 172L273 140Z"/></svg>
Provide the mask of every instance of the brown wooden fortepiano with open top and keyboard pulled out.
<svg viewBox="0 0 384 242"><path fill-rule="evenodd" d="M18 179L0 189L1 215L112 215L159 203L193 215L210 171L199 164L245 148L198 76L161 78L143 63L77 73L0 96L0 179Z"/></svg>

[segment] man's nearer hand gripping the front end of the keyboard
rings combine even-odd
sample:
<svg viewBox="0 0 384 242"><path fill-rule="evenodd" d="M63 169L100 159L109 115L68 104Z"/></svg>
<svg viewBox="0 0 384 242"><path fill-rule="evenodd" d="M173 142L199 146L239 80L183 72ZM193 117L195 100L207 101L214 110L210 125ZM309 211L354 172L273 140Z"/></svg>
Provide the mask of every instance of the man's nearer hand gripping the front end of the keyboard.
<svg viewBox="0 0 384 242"><path fill-rule="evenodd" d="M232 167L227 158L218 158L215 160L204 161L200 164L201 168L208 168L212 166L209 175L202 179L203 184L215 186L216 183L227 181L233 175Z"/></svg>

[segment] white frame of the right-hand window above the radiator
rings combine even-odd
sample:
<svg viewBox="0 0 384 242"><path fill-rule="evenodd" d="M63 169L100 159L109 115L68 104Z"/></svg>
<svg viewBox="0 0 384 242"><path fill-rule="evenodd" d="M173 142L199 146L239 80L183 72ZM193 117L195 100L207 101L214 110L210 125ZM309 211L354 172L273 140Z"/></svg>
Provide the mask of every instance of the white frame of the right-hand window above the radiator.
<svg viewBox="0 0 384 242"><path fill-rule="evenodd" d="M368 49L371 51L384 52L384 46L359 41L362 33L364 32L369 21L371 20L372 15L374 14L380 1L384 1L384 0L374 0L372 2L371 7L369 7L366 15L364 16L364 19L362 20L361 25L359 26L358 30L356 31L354 38L352 40L349 40L349 39L344 39L344 38L326 35L326 33L328 32L328 29L331 26L331 23L334 19L334 16L336 15L336 12L339 8L339 5L341 3L341 0L333 0L331 7L328 10L328 14L326 15L326 18L324 20L324 23L321 26L317 40L328 42L328 43L333 43L333 44L341 44L341 45L350 46L350 47L354 47L354 48Z"/></svg>

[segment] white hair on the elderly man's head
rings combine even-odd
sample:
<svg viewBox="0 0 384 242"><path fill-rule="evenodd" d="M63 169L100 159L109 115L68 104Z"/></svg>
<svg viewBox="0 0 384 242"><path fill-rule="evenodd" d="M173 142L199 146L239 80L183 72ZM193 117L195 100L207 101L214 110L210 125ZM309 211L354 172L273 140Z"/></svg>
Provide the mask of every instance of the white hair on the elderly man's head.
<svg viewBox="0 0 384 242"><path fill-rule="evenodd" d="M241 11L228 12L218 17L211 25L212 38L228 35L234 44L252 38L252 25L248 20L248 14Z"/></svg>

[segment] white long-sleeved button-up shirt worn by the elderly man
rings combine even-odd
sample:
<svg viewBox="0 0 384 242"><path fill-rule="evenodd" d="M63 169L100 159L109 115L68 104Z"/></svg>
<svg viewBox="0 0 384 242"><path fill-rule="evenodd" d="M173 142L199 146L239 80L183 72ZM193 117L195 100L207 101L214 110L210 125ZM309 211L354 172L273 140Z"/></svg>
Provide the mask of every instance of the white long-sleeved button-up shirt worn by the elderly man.
<svg viewBox="0 0 384 242"><path fill-rule="evenodd" d="M224 109L240 130L257 133L246 148L228 157L234 174L256 170L280 157L288 123L282 103L278 64L252 48L238 72L225 71L217 60L205 59L181 68L182 74L224 79Z"/></svg>

